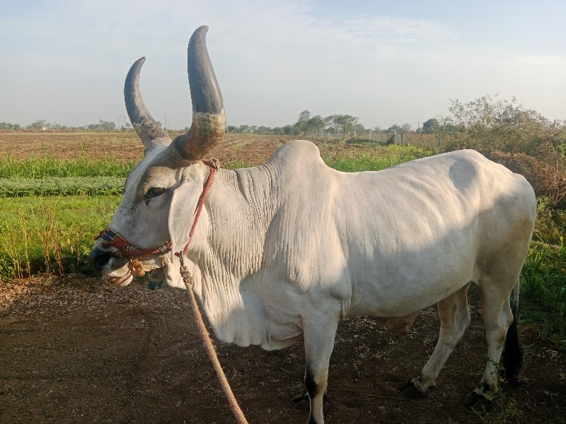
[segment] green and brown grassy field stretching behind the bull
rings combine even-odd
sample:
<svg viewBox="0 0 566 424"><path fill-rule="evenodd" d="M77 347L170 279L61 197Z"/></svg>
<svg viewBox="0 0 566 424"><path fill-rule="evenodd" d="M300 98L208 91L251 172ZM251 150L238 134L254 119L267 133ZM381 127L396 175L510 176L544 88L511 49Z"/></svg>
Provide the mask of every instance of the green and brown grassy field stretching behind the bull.
<svg viewBox="0 0 566 424"><path fill-rule="evenodd" d="M133 134L121 133L93 139L88 134L39 134L37 139L0 134L0 281L93 272L88 264L93 236L110 222L125 177L142 155L141 143L134 141ZM214 153L233 169L261 163L284 141L279 136L231 136ZM345 172L381 170L427 155L410 146L317 144L325 162ZM129 146L128 155L119 148L123 146ZM121 153L114 155L116 150ZM533 317L543 314L545 331L566 346L566 247L560 227L554 232L548 228L548 209L541 206L539 213L521 290L538 305L531 309Z"/></svg>

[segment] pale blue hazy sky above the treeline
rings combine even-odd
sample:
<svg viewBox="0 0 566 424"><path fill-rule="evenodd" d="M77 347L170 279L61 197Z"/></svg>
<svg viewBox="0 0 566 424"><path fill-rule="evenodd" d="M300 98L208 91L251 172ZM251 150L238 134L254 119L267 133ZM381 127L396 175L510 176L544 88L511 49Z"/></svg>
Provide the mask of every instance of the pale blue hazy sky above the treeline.
<svg viewBox="0 0 566 424"><path fill-rule="evenodd" d="M207 42L229 125L308 109L366 127L513 96L566 119L566 1L0 0L0 122L79 126L126 115L123 83L173 129L190 124L186 48Z"/></svg>

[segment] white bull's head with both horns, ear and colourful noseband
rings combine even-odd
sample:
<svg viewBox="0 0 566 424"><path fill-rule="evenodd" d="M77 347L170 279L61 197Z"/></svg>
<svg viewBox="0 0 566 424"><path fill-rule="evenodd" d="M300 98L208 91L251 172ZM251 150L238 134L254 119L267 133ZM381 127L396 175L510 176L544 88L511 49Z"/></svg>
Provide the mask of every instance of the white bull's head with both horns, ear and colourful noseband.
<svg viewBox="0 0 566 424"><path fill-rule="evenodd" d="M200 160L226 131L222 95L207 52L207 30L206 26L198 28L189 41L192 125L187 134L171 140L146 110L139 91L139 71L145 58L136 61L127 74L126 109L144 143L144 158L129 173L122 202L90 254L93 266L114 283L132 281L134 270L128 252L140 252L134 255L139 256L136 265L149 271L171 263L167 258L173 255L168 253L167 257L163 252L178 252L187 241L190 223L180 225L171 217L182 214L188 218L195 210L207 176L207 166Z"/></svg>

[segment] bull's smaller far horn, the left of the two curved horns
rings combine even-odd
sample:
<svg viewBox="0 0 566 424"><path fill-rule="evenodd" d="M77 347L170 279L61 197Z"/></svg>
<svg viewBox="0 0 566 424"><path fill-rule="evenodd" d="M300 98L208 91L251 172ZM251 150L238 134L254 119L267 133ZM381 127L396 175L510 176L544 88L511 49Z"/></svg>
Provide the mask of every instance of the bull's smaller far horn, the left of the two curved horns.
<svg viewBox="0 0 566 424"><path fill-rule="evenodd" d="M124 84L124 100L126 102L126 110L128 112L129 121L137 132L139 139L146 148L149 150L152 146L152 141L155 139L168 139L168 135L161 128L144 105L144 100L141 98L139 91L139 70L141 65L144 64L145 57L137 59L137 61L129 69Z"/></svg>

